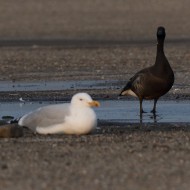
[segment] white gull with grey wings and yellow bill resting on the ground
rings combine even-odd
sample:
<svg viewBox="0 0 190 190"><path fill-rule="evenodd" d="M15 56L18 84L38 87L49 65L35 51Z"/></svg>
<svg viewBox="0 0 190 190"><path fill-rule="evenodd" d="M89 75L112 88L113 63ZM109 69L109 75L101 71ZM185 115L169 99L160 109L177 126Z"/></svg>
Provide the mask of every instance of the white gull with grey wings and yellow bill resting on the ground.
<svg viewBox="0 0 190 190"><path fill-rule="evenodd" d="M18 124L39 134L87 134L97 125L91 106L99 106L99 103L86 93L78 93L71 103L41 107L24 115Z"/></svg>

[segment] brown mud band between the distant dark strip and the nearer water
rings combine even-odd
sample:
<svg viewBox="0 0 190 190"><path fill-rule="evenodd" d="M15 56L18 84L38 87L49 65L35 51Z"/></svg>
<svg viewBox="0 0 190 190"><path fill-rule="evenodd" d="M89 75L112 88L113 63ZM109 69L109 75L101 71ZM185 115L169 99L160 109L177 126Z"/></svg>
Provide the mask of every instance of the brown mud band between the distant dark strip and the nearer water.
<svg viewBox="0 0 190 190"><path fill-rule="evenodd" d="M77 46L77 45L76 45ZM175 73L175 84L165 99L189 99L190 43L167 42L165 53ZM118 81L118 87L84 91L95 98L117 98L121 88L135 72L154 64L156 40L146 43L118 44L114 46L32 46L2 47L0 56L1 81ZM19 97L37 100L69 100L77 90L44 92L0 92L1 100Z"/></svg>

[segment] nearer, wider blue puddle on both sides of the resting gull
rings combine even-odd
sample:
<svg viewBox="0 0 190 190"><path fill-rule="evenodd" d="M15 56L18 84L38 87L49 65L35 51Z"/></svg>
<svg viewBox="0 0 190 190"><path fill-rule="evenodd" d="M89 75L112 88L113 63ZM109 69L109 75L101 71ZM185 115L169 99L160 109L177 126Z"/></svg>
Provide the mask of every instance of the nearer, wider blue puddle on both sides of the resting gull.
<svg viewBox="0 0 190 190"><path fill-rule="evenodd" d="M25 113L35 110L41 106L63 102L2 102L0 103L0 118L2 116L13 116L19 118ZM95 112L100 121L113 123L139 123L139 102L127 100L102 100L101 107ZM190 101L158 101L157 116L150 113L153 102L145 101L143 108L147 113L143 114L143 123L188 123L190 122Z"/></svg>

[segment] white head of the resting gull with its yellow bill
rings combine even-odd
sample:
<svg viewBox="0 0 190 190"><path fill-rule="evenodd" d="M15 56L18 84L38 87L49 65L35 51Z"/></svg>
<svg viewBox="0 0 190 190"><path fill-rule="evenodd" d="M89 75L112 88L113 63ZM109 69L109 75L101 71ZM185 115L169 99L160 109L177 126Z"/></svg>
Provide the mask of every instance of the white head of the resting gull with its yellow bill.
<svg viewBox="0 0 190 190"><path fill-rule="evenodd" d="M71 105L80 107L99 107L100 103L94 101L87 93L77 93L72 97Z"/></svg>

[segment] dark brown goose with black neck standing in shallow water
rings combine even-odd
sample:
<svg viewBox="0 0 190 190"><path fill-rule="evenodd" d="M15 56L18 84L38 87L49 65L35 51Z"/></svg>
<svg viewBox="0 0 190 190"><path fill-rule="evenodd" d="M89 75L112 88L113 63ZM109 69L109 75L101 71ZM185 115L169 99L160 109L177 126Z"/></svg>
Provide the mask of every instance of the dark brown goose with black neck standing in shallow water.
<svg viewBox="0 0 190 190"><path fill-rule="evenodd" d="M157 29L157 55L153 66L136 73L126 84L120 96L132 95L139 98L140 114L143 113L142 101L154 99L152 112L156 112L157 100L166 94L174 83L173 70L164 54L164 27Z"/></svg>

